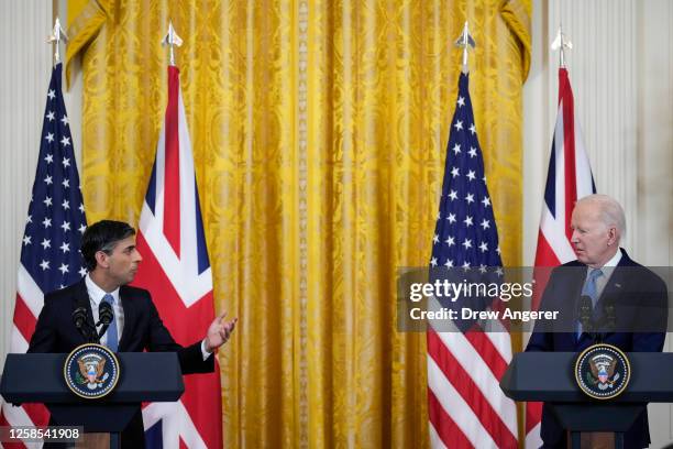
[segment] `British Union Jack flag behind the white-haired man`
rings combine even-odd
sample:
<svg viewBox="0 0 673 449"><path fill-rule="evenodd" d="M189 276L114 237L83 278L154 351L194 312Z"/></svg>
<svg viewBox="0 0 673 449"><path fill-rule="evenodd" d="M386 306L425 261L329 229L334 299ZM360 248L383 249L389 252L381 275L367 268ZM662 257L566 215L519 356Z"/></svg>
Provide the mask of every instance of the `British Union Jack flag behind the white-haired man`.
<svg viewBox="0 0 673 449"><path fill-rule="evenodd" d="M567 70L559 68L559 112L549 158L544 187L542 218L538 232L536 266L549 267L574 261L571 244L571 216L577 199L596 193L580 124L575 121L575 105ZM550 270L536 270L532 309L540 298L551 274ZM541 403L526 404L526 447L539 448Z"/></svg>

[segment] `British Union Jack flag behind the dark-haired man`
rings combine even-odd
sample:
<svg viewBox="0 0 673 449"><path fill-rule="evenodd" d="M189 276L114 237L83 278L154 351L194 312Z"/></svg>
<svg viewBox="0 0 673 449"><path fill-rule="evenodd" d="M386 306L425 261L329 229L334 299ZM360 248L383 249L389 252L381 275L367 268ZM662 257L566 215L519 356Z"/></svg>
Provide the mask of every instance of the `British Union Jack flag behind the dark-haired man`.
<svg viewBox="0 0 673 449"><path fill-rule="evenodd" d="M179 70L168 67L168 103L140 219L143 255L134 285L152 292L166 327L183 346L199 341L214 319L212 276ZM148 447L222 447L220 370L185 377L177 403L143 407Z"/></svg>

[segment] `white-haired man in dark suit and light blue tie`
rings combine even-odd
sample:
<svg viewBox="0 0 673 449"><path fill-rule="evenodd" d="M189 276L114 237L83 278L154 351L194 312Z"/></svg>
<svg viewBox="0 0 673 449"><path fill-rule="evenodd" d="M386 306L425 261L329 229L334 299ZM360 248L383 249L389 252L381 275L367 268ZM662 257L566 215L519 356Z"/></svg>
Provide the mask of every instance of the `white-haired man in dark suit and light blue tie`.
<svg viewBox="0 0 673 449"><path fill-rule="evenodd" d="M577 260L552 272L541 302L541 309L573 310L572 319L553 328L536 325L526 351L578 352L602 341L627 352L661 352L668 320L666 286L619 248L625 223L621 206L606 195L577 201L571 221ZM582 296L592 299L591 319L596 332L583 329L574 313ZM609 326L605 325L606 306L614 310ZM566 448L566 431L547 404L540 434L543 448ZM625 447L643 448L649 443L646 410L625 434Z"/></svg>

